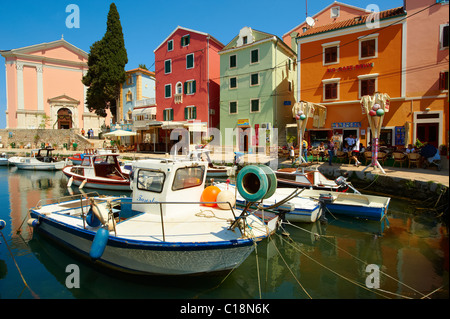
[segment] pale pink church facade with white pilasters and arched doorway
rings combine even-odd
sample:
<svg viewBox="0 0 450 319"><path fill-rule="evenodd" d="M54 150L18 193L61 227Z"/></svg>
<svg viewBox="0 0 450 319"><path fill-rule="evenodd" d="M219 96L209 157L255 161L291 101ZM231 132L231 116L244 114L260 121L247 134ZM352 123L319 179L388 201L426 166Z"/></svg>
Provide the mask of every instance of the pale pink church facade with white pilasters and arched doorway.
<svg viewBox="0 0 450 319"><path fill-rule="evenodd" d="M86 52L61 39L0 53L6 60L6 128L98 133L105 118L86 108L81 82L88 69Z"/></svg>

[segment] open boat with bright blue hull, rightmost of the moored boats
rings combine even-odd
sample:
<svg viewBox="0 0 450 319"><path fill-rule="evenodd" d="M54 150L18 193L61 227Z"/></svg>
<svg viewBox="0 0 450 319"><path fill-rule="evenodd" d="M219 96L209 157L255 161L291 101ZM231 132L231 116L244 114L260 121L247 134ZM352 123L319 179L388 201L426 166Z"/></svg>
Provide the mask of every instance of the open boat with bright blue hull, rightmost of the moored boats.
<svg viewBox="0 0 450 319"><path fill-rule="evenodd" d="M305 189L302 197L324 202L326 211L369 220L386 217L390 197Z"/></svg>

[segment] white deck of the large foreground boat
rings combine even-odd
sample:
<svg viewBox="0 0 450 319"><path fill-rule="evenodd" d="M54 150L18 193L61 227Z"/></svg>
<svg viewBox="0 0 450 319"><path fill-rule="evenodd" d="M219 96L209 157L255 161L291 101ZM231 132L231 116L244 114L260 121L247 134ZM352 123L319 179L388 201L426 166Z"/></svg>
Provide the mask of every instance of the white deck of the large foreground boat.
<svg viewBox="0 0 450 319"><path fill-rule="evenodd" d="M102 200L106 199L102 198ZM33 211L44 214L47 218L56 222L82 229L84 226L81 211L83 210L86 213L90 206L86 200L83 201L83 207L80 203L81 200L56 203L33 209ZM197 209L189 213L180 208L180 212L175 215L163 216L163 223L161 222L159 205L155 205L155 208L158 209L154 213L132 212L134 216L126 219L120 217L119 210L114 210L116 215L119 213L119 218L115 219L116 232L110 231L111 238L117 236L120 239L133 241L202 243L232 241L246 237L263 237L267 235L268 231L267 227L261 223L261 219L253 215L246 218L251 229L247 228L246 236L242 236L238 227L233 231L228 230L234 221L233 213L230 210L221 210L217 207L197 205ZM236 216L239 216L240 213L240 210L235 210ZM266 214L270 215L270 213ZM164 227L162 227L163 224ZM86 229L97 230L97 228L90 227L87 224Z"/></svg>

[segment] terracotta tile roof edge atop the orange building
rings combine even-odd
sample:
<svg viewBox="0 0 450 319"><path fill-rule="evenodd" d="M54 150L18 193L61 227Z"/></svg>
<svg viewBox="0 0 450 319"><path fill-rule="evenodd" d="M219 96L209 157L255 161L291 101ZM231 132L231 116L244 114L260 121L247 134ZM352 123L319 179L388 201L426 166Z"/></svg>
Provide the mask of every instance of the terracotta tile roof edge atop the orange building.
<svg viewBox="0 0 450 319"><path fill-rule="evenodd" d="M383 19L388 19L388 18L392 18L392 17L396 17L396 16L405 15L406 11L403 9L403 7L398 7L398 8L394 8L394 9L380 11L379 14L380 14L379 19L383 20ZM302 37L315 35L318 33L324 33L324 32L328 32L328 31L333 31L333 30L338 30L338 29L343 29L343 28L348 28L348 27L365 24L369 15L370 15L370 13L368 13L366 15L362 15L362 16L355 16L354 18L344 20L344 21L326 24L323 26L319 26L317 28L313 27L311 29L308 29L306 32L300 34L298 37L302 38Z"/></svg>

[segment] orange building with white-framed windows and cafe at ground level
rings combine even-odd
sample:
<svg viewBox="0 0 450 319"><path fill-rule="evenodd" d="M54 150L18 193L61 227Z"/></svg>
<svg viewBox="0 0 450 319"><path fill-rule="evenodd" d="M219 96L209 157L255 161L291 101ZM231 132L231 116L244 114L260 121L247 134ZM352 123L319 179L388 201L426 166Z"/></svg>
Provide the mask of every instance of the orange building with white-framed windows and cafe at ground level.
<svg viewBox="0 0 450 319"><path fill-rule="evenodd" d="M365 13L351 19L312 27L296 38L298 101L327 107L323 127L308 123L310 143L334 134L370 141L361 97L374 92L391 97L384 117L381 145L405 145L406 12L403 7ZM401 135L401 136L400 136ZM397 137L397 140L396 140ZM402 138L399 138L402 137Z"/></svg>

